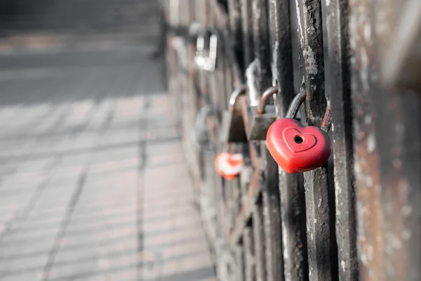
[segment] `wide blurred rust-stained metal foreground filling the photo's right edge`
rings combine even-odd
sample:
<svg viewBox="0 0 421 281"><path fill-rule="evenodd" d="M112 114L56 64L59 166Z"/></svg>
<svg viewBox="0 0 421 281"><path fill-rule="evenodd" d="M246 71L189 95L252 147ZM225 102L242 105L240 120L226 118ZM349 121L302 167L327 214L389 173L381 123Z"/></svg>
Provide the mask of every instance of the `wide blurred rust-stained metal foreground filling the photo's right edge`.
<svg viewBox="0 0 421 281"><path fill-rule="evenodd" d="M399 15L394 1L379 3L350 2L352 96L363 95L365 105L354 101L361 279L420 280L420 212L413 210L420 204L421 133L413 122L420 120L421 102L413 93L385 89L379 79Z"/></svg>

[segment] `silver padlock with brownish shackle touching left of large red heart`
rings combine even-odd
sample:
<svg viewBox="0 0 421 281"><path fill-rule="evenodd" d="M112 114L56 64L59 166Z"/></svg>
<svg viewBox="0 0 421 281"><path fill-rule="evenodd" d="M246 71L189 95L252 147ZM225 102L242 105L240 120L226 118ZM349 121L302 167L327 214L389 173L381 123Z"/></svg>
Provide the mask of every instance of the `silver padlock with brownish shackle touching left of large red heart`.
<svg viewBox="0 0 421 281"><path fill-rule="evenodd" d="M265 141L267 130L273 122L276 121L275 105L267 105L267 99L276 97L278 88L270 87L260 97L258 106L252 106L251 112L253 120L251 122L250 131L248 132L249 141Z"/></svg>

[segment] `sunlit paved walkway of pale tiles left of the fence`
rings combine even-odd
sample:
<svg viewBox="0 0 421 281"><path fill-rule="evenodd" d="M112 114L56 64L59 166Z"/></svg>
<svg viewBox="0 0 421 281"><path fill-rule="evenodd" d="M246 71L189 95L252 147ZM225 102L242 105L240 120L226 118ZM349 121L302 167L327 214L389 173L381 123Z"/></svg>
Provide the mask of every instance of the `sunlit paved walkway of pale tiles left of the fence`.
<svg viewBox="0 0 421 281"><path fill-rule="evenodd" d="M0 280L215 280L147 49L0 56Z"/></svg>

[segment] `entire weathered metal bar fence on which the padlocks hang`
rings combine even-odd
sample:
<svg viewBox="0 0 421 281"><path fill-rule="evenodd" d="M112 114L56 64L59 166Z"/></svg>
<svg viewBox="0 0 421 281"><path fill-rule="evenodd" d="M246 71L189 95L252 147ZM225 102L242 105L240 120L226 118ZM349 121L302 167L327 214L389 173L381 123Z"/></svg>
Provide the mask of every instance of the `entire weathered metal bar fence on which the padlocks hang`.
<svg viewBox="0 0 421 281"><path fill-rule="evenodd" d="M169 91L220 280L421 280L420 89L382 80L408 3L165 1ZM194 63L193 22L218 34L213 72ZM420 77L416 68L400 69ZM229 96L252 78L257 93L279 90L277 117L302 84L302 122L320 126L331 107L327 164L286 174L265 141L218 141ZM203 152L191 130L205 105L214 148ZM253 96L239 105L250 129ZM244 157L233 181L213 168L222 150Z"/></svg>

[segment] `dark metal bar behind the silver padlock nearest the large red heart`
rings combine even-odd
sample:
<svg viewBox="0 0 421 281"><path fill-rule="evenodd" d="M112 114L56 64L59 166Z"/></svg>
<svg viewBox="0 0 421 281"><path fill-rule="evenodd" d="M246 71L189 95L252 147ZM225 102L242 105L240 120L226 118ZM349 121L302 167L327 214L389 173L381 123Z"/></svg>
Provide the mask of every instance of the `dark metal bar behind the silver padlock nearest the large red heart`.
<svg viewBox="0 0 421 281"><path fill-rule="evenodd" d="M271 44L269 41L269 9L267 0L253 0L253 42L255 58L258 60L258 76L255 77L258 91L262 93L272 86ZM265 162L265 181L263 182L262 207L258 205L255 216L264 210L262 222L265 228L262 243L265 256L257 256L258 278L262 280L283 280L281 207L279 202L278 165L267 152L265 145L261 146ZM255 217L253 216L253 218ZM253 219L258 226L260 219ZM255 230L257 231L257 230ZM258 236L255 235L256 241ZM257 251L256 251L257 253ZM263 263L263 266L260 266Z"/></svg>

